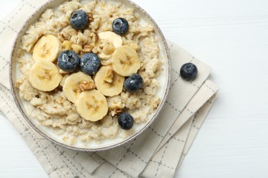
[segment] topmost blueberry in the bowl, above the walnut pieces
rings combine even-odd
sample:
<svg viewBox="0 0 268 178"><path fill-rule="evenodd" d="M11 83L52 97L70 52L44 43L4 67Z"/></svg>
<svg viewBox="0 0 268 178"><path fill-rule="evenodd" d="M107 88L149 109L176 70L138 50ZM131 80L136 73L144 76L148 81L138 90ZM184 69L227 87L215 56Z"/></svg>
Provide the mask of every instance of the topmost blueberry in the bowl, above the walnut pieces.
<svg viewBox="0 0 268 178"><path fill-rule="evenodd" d="M73 14L71 14L70 24L74 29L85 29L87 23L89 21L89 17L87 13L83 10L76 10Z"/></svg>

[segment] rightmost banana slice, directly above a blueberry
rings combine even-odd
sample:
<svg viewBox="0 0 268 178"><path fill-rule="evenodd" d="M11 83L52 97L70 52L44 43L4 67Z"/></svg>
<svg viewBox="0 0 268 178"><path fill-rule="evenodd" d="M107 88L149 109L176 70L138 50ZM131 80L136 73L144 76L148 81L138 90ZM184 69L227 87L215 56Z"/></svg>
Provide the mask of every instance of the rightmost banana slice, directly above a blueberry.
<svg viewBox="0 0 268 178"><path fill-rule="evenodd" d="M137 73L140 63L135 49L127 45L116 49L111 58L113 70L122 76L130 76L133 73Z"/></svg>

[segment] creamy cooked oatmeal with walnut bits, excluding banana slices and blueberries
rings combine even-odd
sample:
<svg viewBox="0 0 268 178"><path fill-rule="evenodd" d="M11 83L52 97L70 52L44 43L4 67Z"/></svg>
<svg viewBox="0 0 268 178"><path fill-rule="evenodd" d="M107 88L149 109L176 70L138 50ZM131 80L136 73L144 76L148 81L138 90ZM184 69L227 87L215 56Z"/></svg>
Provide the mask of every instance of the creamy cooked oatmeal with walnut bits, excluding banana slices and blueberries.
<svg viewBox="0 0 268 178"><path fill-rule="evenodd" d="M89 14L89 27L82 31L72 29L69 25L71 14L78 9ZM32 87L28 73L34 64L32 50L38 39L52 34L63 42L63 48L71 48L80 56L90 51L100 54L104 48L98 43L98 33L112 31L111 24L118 17L129 21L129 32L122 36L122 40L123 44L130 45L137 51L142 62L138 71L144 79L142 90L133 93L123 90L118 96L107 97L109 113L102 120L91 122L78 115L74 103L68 101L63 93L62 88L69 73L58 68L63 79L60 86L52 92L41 92ZM120 128L115 117L118 112L127 111L136 124L144 123L159 105L159 84L156 77L161 72L161 62L155 32L152 26L142 23L133 9L120 3L73 0L56 9L45 10L38 21L27 29L16 60L22 73L16 81L16 87L19 88L20 97L27 103L28 114L42 125L52 127L70 145L76 144L78 140L86 144L91 140L126 138L133 133L133 129L126 131ZM105 62L109 63L110 60L103 60L102 64Z"/></svg>

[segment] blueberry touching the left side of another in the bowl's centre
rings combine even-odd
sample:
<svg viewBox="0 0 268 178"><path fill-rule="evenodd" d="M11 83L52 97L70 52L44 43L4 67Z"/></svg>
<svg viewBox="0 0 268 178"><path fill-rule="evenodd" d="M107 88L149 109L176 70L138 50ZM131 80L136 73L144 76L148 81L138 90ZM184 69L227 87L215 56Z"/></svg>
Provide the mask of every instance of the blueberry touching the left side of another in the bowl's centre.
<svg viewBox="0 0 268 178"><path fill-rule="evenodd" d="M58 55L58 67L63 71L74 72L79 65L80 58L78 54L71 50L62 51Z"/></svg>

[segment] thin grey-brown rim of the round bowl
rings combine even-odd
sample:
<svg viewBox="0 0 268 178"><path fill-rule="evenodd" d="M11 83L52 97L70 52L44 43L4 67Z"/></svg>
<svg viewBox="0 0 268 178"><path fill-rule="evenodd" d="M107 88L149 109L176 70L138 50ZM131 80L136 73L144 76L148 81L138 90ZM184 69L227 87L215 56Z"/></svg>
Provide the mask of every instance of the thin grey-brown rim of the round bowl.
<svg viewBox="0 0 268 178"><path fill-rule="evenodd" d="M72 147L71 145L64 144L62 142L58 142L57 140L54 140L53 138L47 136L47 134L46 133L43 133L43 131L41 131L40 129L38 129L34 125L34 123L32 123L32 121L30 120L30 118L28 118L27 115L23 112L23 109L22 109L22 107L21 107L21 105L19 103L19 100L16 97L16 92L15 92L16 89L15 89L15 86L14 86L13 75L12 75L12 58L13 58L14 53L15 53L16 44L19 42L20 34L23 32L23 30L25 29L25 27L27 25L29 25L28 24L29 21L36 15L36 13L40 12L40 10L43 10L43 8L45 8L45 6L49 5L53 1L57 1L57 0L49 0L46 3L44 3L43 5L41 5L40 7L36 8L36 10L27 18L27 21L25 21L23 23L22 27L19 29L19 32L16 34L16 38L14 39L14 42L12 44L12 51L10 53L10 61L9 61L9 81L10 81L10 88L11 88L12 97L14 99L14 102L16 103L16 107L19 109L19 112L21 113L21 115L23 116L23 118L27 121L27 123L38 134L40 134L41 136L43 136L43 138L49 140L50 142L52 142L54 144L58 144L61 147L64 147L64 148L67 148L67 149L72 149L72 150L75 150L75 151L104 151L104 150L113 149L115 147L119 147L120 145L125 144L126 142L129 142L129 141L133 140L134 138L136 138L137 136L139 136L140 134L142 134L146 129L148 129L148 127L150 127L150 125L159 116L159 113L161 112L161 110L164 107L164 103L166 103L166 99L168 97L168 92L169 92L169 89L170 89L171 60L170 60L170 51L168 49L168 43L167 43L166 38L164 37L164 34L162 33L161 29L157 25L157 23L155 22L155 20L143 8L141 8L139 5L137 5L137 3L134 3L131 0L122 0L122 1L126 1L126 3L130 3L131 5L133 5L134 8L136 8L137 10L139 10L140 12L142 12L142 14L144 14L150 20L151 23L153 23L154 27L157 29L157 32L159 33L159 36L161 37L161 39L159 39L159 40L161 40L163 42L163 44L164 44L164 48L166 50L166 53L164 53L164 55L166 55L166 57L167 57L166 60L167 60L167 65L168 65L168 79L167 79L166 90L164 91L164 97L161 100L161 103L158 105L155 114L148 121L148 123L146 123L146 125L144 127L142 127L142 129L140 129L139 131L133 133L133 135L129 136L129 138L126 138L126 140L123 140L122 142L118 142L116 144L112 144L112 145L101 147L101 148L93 148L93 149L90 149L90 148L78 148L78 147Z"/></svg>

